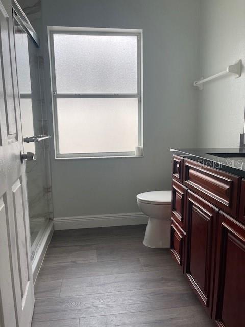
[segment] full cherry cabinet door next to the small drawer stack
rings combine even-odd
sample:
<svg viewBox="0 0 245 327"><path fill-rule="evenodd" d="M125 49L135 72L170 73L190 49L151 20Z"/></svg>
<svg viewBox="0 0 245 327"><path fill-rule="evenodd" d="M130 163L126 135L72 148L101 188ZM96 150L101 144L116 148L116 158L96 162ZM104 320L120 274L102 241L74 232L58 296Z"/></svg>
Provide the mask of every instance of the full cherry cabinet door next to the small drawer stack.
<svg viewBox="0 0 245 327"><path fill-rule="evenodd" d="M215 231L218 209L187 192L187 240L185 272L199 300L211 316Z"/></svg>

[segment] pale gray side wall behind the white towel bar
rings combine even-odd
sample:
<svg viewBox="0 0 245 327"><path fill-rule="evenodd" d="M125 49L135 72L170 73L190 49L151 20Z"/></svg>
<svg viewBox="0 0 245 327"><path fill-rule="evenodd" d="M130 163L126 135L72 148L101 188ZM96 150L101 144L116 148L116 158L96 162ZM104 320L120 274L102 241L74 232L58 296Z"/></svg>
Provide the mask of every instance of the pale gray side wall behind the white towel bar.
<svg viewBox="0 0 245 327"><path fill-rule="evenodd" d="M200 76L245 63L244 0L201 1ZM237 147L243 133L245 74L204 84L199 92L198 135L201 147Z"/></svg>

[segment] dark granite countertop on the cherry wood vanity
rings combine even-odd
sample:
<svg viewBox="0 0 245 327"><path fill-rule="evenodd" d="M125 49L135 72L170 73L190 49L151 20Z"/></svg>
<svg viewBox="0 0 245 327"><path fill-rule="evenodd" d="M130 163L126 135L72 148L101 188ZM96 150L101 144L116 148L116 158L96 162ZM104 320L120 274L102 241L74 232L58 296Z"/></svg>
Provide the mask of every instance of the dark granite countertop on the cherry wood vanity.
<svg viewBox="0 0 245 327"><path fill-rule="evenodd" d="M245 148L171 149L173 154L245 178Z"/></svg>

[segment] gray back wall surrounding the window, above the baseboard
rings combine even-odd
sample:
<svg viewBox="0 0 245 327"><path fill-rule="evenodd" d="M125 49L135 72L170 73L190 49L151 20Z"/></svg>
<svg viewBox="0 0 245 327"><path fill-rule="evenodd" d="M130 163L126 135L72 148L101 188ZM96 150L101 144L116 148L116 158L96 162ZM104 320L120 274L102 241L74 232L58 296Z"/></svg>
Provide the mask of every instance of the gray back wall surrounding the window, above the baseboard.
<svg viewBox="0 0 245 327"><path fill-rule="evenodd" d="M199 1L42 0L46 98L53 137L47 26L143 29L144 157L54 160L54 216L139 211L136 194L171 185L170 147L195 147Z"/></svg>

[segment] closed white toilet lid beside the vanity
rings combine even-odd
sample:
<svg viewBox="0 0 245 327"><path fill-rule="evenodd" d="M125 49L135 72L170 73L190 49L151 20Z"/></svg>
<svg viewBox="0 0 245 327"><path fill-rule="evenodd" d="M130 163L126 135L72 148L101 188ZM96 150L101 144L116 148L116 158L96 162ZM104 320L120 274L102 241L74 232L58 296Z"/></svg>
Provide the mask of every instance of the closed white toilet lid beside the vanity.
<svg viewBox="0 0 245 327"><path fill-rule="evenodd" d="M152 204L171 204L172 191L151 191L140 193L137 195L137 200Z"/></svg>

